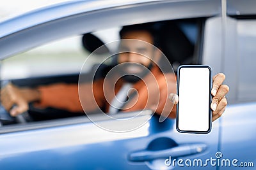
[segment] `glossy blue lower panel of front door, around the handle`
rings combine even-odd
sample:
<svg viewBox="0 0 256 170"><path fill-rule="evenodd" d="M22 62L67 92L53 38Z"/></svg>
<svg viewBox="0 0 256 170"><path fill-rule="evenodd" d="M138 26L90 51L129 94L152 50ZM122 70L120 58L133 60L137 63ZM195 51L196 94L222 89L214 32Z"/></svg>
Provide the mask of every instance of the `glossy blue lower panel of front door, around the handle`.
<svg viewBox="0 0 256 170"><path fill-rule="evenodd" d="M1 148L0 166L8 169L149 169L147 162L131 162L128 157L132 152L146 150L151 141L159 138L173 139L179 145L207 145L205 152L183 159L208 159L217 152L218 121L214 122L212 131L205 136L180 134L175 130L175 120L168 119L159 124L158 118L154 116L139 129L124 133L105 131L86 122L1 134L0 145L4 148ZM134 121L140 120L136 118ZM117 121L102 123L120 125ZM164 160L161 163L157 163L155 168L164 166Z"/></svg>

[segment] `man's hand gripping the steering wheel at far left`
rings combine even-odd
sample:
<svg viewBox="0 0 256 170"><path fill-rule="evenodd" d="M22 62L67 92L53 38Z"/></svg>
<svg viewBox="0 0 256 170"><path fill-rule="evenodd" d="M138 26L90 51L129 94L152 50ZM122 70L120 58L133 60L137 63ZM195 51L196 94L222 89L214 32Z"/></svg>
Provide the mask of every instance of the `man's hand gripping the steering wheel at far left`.
<svg viewBox="0 0 256 170"><path fill-rule="evenodd" d="M20 89L11 83L1 89L1 104L13 117L27 111L29 102L38 99L40 99L40 93L34 89Z"/></svg>

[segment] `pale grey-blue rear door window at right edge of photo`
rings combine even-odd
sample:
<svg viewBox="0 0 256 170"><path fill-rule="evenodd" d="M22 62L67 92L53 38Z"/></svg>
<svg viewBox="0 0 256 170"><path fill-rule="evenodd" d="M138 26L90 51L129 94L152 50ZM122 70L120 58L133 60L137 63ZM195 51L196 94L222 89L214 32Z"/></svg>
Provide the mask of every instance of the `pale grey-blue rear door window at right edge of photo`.
<svg viewBox="0 0 256 170"><path fill-rule="evenodd" d="M256 20L237 20L237 69L239 101L255 101Z"/></svg>

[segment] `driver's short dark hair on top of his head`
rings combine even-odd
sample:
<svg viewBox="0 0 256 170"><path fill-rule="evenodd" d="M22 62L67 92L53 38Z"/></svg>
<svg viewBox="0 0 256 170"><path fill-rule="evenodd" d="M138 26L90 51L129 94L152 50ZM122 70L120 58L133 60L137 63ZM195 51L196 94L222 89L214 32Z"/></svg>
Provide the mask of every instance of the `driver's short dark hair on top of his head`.
<svg viewBox="0 0 256 170"><path fill-rule="evenodd" d="M147 31L152 35L153 45L159 47L159 43L157 41L157 29L154 27L153 23L145 23L145 24L136 24L136 25L125 25L119 32L120 39L124 36L126 32L132 31Z"/></svg>

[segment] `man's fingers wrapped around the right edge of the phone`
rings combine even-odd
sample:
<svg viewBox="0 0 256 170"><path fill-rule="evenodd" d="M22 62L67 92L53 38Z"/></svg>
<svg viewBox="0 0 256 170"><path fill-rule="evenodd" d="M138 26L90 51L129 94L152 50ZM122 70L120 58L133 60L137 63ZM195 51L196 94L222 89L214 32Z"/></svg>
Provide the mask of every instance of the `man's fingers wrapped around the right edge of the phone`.
<svg viewBox="0 0 256 170"><path fill-rule="evenodd" d="M212 78L212 122L217 118L221 117L222 113L225 111L226 106L228 104L225 95L229 91L229 87L227 85L223 85L223 81L225 80L225 74L219 73L216 74Z"/></svg>

